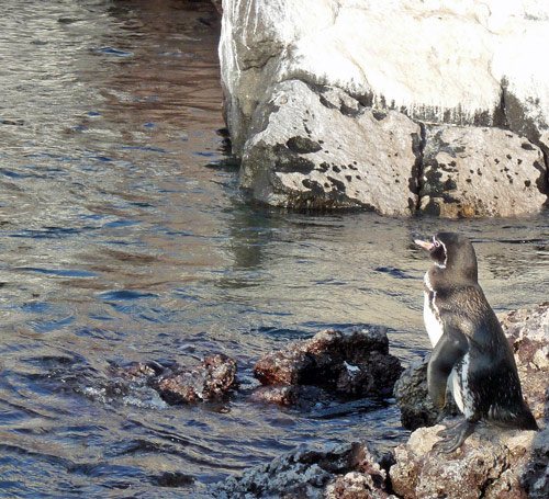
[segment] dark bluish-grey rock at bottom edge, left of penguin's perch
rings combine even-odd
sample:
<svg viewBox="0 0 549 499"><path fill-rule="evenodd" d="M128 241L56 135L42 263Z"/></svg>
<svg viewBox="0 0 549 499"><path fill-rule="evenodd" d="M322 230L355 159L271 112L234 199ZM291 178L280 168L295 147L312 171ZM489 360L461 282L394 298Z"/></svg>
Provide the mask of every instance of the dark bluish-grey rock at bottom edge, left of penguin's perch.
<svg viewBox="0 0 549 499"><path fill-rule="evenodd" d="M299 447L271 463L246 469L212 490L217 499L390 499L386 473L367 444L317 451Z"/></svg>

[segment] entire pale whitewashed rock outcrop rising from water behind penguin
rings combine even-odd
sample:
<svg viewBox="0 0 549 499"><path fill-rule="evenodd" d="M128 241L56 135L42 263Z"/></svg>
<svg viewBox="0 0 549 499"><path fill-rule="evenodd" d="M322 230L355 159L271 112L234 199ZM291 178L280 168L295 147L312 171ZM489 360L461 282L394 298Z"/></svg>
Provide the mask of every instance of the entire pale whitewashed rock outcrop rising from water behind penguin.
<svg viewBox="0 0 549 499"><path fill-rule="evenodd" d="M220 59L240 185L293 208L537 212L548 33L549 8L527 0L226 0Z"/></svg>

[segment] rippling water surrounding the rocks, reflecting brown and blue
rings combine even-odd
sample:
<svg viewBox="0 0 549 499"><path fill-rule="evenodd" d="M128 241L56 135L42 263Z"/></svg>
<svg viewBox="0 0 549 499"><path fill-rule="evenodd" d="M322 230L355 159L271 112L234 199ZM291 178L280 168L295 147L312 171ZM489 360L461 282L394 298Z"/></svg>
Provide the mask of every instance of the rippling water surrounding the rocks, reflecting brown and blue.
<svg viewBox="0 0 549 499"><path fill-rule="evenodd" d="M301 443L406 432L391 401L300 413L249 400L259 355L328 326L428 348L425 256L475 242L496 310L547 298L547 213L441 222L289 214L248 203L227 166L208 5L13 1L0 18L0 496L209 497ZM242 390L168 407L116 392L113 364L238 362Z"/></svg>

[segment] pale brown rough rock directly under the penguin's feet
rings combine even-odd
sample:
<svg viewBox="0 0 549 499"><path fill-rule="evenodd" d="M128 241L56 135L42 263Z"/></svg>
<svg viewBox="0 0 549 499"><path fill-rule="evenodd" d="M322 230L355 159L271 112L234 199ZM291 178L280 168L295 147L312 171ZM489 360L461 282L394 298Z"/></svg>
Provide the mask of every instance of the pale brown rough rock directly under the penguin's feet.
<svg viewBox="0 0 549 499"><path fill-rule="evenodd" d="M548 490L548 432L480 427L451 454L433 452L442 426L421 428L394 451L390 469L394 492L403 499L541 499ZM545 454L545 467L533 464ZM534 457L535 458L535 457ZM534 490L536 489L535 494Z"/></svg>

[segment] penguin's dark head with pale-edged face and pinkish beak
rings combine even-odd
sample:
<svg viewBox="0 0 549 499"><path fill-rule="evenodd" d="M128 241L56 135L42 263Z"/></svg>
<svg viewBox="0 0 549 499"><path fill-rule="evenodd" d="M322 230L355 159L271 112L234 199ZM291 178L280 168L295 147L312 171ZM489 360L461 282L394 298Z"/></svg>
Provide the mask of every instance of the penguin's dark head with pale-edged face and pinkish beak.
<svg viewBox="0 0 549 499"><path fill-rule="evenodd" d="M429 252L435 265L445 274L477 282L477 254L469 239L455 233L438 233L433 237L433 242L418 239L415 242Z"/></svg>

